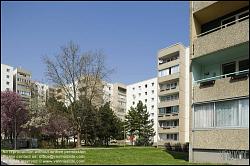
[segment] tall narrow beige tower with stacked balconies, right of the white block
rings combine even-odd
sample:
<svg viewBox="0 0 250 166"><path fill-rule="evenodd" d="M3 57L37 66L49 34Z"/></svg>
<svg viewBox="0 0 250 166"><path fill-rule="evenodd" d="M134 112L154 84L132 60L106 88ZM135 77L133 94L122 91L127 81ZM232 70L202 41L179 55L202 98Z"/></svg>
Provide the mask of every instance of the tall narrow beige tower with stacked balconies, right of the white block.
<svg viewBox="0 0 250 166"><path fill-rule="evenodd" d="M180 43L158 52L158 146L189 141L189 48Z"/></svg>

